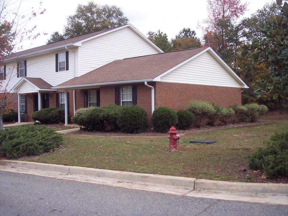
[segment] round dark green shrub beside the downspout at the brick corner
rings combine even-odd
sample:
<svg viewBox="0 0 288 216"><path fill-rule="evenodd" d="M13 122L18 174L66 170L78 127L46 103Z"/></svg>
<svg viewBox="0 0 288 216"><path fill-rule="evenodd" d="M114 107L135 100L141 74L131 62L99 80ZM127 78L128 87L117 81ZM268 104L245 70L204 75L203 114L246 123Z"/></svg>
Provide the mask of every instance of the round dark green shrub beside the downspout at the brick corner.
<svg viewBox="0 0 288 216"><path fill-rule="evenodd" d="M168 132L178 122L177 114L169 107L158 107L152 113L152 128L158 132Z"/></svg>

